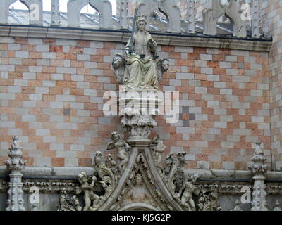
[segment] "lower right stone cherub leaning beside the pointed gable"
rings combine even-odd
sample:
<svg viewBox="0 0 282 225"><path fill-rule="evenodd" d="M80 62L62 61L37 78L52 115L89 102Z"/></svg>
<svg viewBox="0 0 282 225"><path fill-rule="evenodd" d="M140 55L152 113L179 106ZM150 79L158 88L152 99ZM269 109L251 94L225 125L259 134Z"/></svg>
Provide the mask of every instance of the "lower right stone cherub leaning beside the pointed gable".
<svg viewBox="0 0 282 225"><path fill-rule="evenodd" d="M199 175L195 174L190 177L190 181L189 181L189 176L186 176L187 181L185 181L185 183L180 188L178 193L178 196L180 197L181 205L183 205L188 211L196 211L192 194L199 195L200 193L200 191L197 190L197 187L195 186L195 183L197 182L198 178Z"/></svg>

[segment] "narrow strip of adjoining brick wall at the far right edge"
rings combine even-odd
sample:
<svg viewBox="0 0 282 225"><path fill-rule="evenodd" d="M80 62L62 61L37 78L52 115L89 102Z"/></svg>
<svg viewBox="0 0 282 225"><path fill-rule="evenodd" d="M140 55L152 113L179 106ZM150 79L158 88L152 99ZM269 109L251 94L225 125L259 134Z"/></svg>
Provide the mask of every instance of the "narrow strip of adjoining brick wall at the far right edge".
<svg viewBox="0 0 282 225"><path fill-rule="evenodd" d="M271 95L271 150L276 169L282 169L281 91L282 91L282 1L260 1L264 32L271 32L273 44L269 53Z"/></svg>

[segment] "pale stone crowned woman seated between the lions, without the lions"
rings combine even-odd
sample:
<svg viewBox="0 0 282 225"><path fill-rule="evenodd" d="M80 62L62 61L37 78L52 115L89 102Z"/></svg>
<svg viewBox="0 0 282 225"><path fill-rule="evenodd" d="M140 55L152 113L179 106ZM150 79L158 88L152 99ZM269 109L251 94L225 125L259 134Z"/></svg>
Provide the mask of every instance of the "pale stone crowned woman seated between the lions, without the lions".
<svg viewBox="0 0 282 225"><path fill-rule="evenodd" d="M128 41L125 53L125 74L123 84L126 89L157 89L157 43L146 30L146 15L136 18L136 32ZM132 44L132 46L130 46Z"/></svg>

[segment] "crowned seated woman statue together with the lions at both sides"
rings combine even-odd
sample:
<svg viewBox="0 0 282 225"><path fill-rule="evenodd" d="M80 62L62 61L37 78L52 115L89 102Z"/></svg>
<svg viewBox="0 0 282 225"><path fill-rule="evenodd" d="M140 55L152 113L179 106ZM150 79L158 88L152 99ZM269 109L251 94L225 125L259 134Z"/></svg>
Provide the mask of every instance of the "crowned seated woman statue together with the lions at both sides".
<svg viewBox="0 0 282 225"><path fill-rule="evenodd" d="M167 58L159 58L157 43L146 30L146 15L136 18L136 32L125 47L126 56L116 54L111 65L119 84L125 89L158 89L162 75L168 71Z"/></svg>

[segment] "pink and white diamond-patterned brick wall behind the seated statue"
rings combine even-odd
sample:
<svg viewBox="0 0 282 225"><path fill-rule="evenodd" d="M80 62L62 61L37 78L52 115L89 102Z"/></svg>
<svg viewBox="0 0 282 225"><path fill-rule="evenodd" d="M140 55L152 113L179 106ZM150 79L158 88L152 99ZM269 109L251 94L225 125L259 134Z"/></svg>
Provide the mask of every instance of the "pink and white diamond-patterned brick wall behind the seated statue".
<svg viewBox="0 0 282 225"><path fill-rule="evenodd" d="M106 90L118 90L112 57L123 44L1 37L0 162L18 135L27 166L90 167L111 131ZM159 89L180 91L180 121L157 117L165 153L184 150L189 168L247 169L252 143L271 158L269 56L258 51L159 46L170 59ZM111 153L116 153L115 150ZM269 160L271 161L271 160Z"/></svg>

